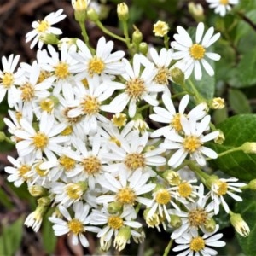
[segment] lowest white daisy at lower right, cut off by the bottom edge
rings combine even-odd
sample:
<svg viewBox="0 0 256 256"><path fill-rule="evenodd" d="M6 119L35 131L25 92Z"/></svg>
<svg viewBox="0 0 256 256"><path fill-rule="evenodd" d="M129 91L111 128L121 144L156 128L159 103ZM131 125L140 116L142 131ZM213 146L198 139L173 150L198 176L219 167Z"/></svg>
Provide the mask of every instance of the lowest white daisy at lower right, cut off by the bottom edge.
<svg viewBox="0 0 256 256"><path fill-rule="evenodd" d="M212 247L224 247L225 242L219 241L223 234L215 234L218 231L218 225L213 233L207 233L200 236L197 231L185 233L183 236L177 238L175 242L177 246L172 249L173 252L180 252L177 256L213 256L218 252ZM214 235L215 234L215 235ZM185 250L185 251L184 251Z"/></svg>

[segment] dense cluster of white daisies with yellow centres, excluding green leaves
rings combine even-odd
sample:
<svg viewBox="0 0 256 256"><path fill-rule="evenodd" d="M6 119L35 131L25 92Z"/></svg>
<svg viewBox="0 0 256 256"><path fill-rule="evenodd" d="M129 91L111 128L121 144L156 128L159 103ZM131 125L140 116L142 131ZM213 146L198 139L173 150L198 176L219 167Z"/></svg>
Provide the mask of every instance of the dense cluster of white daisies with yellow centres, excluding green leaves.
<svg viewBox="0 0 256 256"><path fill-rule="evenodd" d="M88 3L72 3L79 20ZM118 11L122 22L128 20L125 3ZM112 244L124 249L131 238L142 242L144 219L148 227L172 230L179 255L216 255L211 247L225 243L214 217L221 207L234 216L225 200L241 201L237 194L246 184L207 173L207 160L218 154L206 143L221 134L212 125L212 107L186 81L192 73L196 80L214 74L209 60L220 55L209 47L220 33L200 22L195 40L177 26L168 48L146 54L140 40L125 52L103 36L94 49L85 34L84 40L58 38L62 32L53 25L62 13L32 23L26 34L31 48L38 44L32 64L18 64L19 55L2 58L0 102L6 96L4 122L18 153L8 157L13 166L5 171L9 182L26 183L38 197L25 224L38 231L54 207L55 236L68 233L74 245L88 247L84 232L94 232L106 251ZM168 30L162 21L154 26L156 36ZM232 223L247 236L239 217Z"/></svg>

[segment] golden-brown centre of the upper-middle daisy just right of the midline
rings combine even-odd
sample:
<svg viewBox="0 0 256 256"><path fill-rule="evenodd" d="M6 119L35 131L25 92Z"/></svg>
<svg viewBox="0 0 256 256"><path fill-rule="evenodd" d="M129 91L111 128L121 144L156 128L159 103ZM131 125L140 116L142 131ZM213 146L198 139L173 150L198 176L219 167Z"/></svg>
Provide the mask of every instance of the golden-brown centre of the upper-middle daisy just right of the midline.
<svg viewBox="0 0 256 256"><path fill-rule="evenodd" d="M146 91L146 86L143 79L131 79L126 82L125 92L131 98L139 99L143 96L143 93Z"/></svg>

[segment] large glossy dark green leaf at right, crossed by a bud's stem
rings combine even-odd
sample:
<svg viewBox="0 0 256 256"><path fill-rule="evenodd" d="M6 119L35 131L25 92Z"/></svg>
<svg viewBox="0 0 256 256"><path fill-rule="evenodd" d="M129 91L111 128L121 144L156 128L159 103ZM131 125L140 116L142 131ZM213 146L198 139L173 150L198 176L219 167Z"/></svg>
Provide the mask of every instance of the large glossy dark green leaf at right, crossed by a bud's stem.
<svg viewBox="0 0 256 256"><path fill-rule="evenodd" d="M256 115L241 114L230 117L217 125L217 128L224 132L224 143L222 145L209 143L210 147L218 154L230 148L239 147L246 142L256 141ZM237 177L242 180L256 178L256 154L245 154L236 151L225 154L216 160L211 160L210 164L218 170Z"/></svg>

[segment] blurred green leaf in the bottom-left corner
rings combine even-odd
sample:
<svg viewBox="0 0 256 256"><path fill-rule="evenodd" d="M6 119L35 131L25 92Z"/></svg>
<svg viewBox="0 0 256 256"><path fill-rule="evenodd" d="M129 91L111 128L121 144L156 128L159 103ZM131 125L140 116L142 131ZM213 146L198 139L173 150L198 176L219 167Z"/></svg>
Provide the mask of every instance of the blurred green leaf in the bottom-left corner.
<svg viewBox="0 0 256 256"><path fill-rule="evenodd" d="M3 233L0 237L1 255L15 255L20 247L22 238L24 217L20 217L13 224L3 227Z"/></svg>

